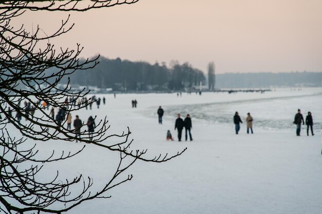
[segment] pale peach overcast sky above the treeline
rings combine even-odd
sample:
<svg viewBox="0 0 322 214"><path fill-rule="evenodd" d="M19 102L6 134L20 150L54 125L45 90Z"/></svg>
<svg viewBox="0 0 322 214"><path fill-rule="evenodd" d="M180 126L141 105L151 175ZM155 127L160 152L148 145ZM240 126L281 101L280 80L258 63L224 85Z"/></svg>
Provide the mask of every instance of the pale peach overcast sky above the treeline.
<svg viewBox="0 0 322 214"><path fill-rule="evenodd" d="M52 32L71 14L57 47L83 57L180 63L216 73L322 72L321 0L140 0L87 12L27 12L15 21Z"/></svg>

